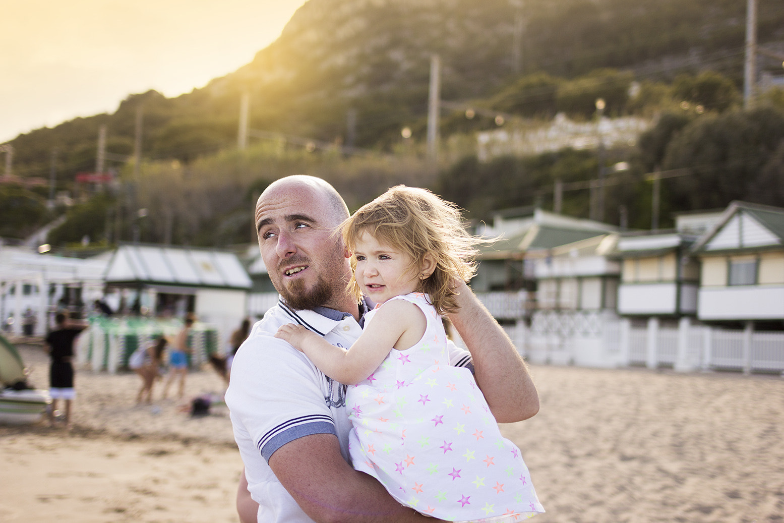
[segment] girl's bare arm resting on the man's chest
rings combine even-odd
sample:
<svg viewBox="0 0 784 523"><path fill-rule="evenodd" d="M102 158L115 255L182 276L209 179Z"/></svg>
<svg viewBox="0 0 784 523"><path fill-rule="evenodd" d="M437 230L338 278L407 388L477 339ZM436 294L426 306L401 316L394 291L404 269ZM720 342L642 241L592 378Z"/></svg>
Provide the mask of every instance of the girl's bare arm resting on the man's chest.
<svg viewBox="0 0 784 523"><path fill-rule="evenodd" d="M333 380L356 385L381 365L392 348L405 350L425 332L426 319L419 307L403 300L385 303L349 349L336 347L300 325L289 323L275 334L301 350L321 372ZM418 333L418 335L417 335Z"/></svg>

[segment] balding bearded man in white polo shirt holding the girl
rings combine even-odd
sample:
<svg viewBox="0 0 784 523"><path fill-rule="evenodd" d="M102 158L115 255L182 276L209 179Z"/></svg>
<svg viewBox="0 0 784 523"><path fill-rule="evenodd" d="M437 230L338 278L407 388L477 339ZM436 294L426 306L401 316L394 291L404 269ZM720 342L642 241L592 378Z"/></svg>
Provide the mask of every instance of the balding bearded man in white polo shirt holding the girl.
<svg viewBox="0 0 784 523"><path fill-rule="evenodd" d="M368 303L347 291L350 252L336 233L348 209L335 189L311 176L271 183L256 204L256 230L267 271L281 295L254 325L232 365L226 394L247 490L265 523L435 521L402 507L374 478L347 461L350 422L345 386L274 338L296 322L350 347ZM453 365L473 368L499 422L533 416L539 398L524 362L473 292L459 287L450 319L470 354L452 347ZM238 492L241 514L248 505Z"/></svg>

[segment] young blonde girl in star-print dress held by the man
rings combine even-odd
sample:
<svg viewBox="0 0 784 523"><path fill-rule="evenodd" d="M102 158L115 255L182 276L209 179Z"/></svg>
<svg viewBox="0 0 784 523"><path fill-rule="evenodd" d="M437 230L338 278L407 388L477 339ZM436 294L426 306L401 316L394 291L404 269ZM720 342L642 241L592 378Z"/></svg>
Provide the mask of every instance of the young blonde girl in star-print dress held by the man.
<svg viewBox="0 0 784 523"><path fill-rule="evenodd" d="M441 314L474 275L475 245L455 206L393 187L343 223L350 286L377 305L349 349L299 325L275 335L350 385L356 470L400 503L447 521L517 521L544 509L520 449L499 432L470 370L452 367Z"/></svg>

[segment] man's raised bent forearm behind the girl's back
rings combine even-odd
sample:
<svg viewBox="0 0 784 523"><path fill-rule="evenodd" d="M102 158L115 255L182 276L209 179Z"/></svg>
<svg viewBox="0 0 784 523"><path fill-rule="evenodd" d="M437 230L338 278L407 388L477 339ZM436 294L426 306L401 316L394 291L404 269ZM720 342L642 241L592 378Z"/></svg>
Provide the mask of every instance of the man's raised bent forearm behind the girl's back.
<svg viewBox="0 0 784 523"><path fill-rule="evenodd" d="M471 353L474 377L496 421L513 423L534 416L539 394L528 365L468 285L460 281L456 291L460 308L449 319Z"/></svg>

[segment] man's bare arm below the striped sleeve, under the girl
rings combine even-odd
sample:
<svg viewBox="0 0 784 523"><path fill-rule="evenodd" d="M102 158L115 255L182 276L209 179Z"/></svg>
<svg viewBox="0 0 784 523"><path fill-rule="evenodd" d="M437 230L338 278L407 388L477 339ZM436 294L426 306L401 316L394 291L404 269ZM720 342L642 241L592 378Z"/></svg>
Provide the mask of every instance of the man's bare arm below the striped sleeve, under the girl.
<svg viewBox="0 0 784 523"><path fill-rule="evenodd" d="M278 481L317 523L435 523L397 502L376 478L354 470L334 434L289 441L270 456Z"/></svg>

